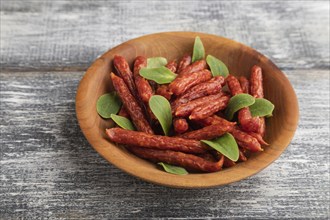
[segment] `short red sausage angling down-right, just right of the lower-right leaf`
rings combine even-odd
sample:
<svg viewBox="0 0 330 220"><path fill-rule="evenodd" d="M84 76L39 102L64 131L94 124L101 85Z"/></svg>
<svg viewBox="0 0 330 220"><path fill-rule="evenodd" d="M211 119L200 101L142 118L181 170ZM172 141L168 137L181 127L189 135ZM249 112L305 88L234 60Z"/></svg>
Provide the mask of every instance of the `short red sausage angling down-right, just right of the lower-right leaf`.
<svg viewBox="0 0 330 220"><path fill-rule="evenodd" d="M258 140L251 135L238 129L232 129L231 134L236 139L238 145L242 148L248 149L252 152L263 151Z"/></svg>

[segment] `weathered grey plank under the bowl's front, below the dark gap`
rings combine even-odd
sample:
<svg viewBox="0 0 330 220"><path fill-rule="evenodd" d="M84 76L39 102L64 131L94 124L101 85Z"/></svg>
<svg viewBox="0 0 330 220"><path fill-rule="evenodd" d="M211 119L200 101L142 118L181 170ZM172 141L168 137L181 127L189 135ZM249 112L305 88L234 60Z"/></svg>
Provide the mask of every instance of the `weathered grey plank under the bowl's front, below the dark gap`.
<svg viewBox="0 0 330 220"><path fill-rule="evenodd" d="M301 113L287 151L241 182L181 190L131 177L92 150L75 118L82 72L3 72L0 219L329 218L329 71L286 73Z"/></svg>

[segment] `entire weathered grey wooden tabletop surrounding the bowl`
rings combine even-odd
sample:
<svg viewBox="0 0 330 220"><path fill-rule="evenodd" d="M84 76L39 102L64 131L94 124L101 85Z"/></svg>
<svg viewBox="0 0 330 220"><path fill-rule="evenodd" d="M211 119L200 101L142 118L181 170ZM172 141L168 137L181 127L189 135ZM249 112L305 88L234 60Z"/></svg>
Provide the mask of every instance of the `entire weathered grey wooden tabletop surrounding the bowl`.
<svg viewBox="0 0 330 220"><path fill-rule="evenodd" d="M100 54L135 37L199 31L272 59L299 98L284 154L246 180L171 189L87 143L75 93ZM329 219L329 1L1 0L0 219Z"/></svg>

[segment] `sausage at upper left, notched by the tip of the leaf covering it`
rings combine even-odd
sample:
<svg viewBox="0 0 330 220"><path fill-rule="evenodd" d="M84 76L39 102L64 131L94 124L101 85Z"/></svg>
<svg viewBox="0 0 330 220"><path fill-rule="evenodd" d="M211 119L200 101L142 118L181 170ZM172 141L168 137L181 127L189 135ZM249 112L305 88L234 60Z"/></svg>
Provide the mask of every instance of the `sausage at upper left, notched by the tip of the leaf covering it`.
<svg viewBox="0 0 330 220"><path fill-rule="evenodd" d="M139 97L144 103L148 103L149 99L153 95L152 88L145 78L140 76L140 69L147 66L147 58L143 56L138 56L134 62L134 81L137 88Z"/></svg>

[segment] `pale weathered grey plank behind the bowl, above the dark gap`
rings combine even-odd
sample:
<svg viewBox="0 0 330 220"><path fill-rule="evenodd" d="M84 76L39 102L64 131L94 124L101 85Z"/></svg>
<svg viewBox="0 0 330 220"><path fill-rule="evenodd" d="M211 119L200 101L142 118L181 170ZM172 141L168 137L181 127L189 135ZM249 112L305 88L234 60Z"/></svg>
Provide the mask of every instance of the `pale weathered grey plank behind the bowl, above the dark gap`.
<svg viewBox="0 0 330 220"><path fill-rule="evenodd" d="M126 40L163 31L232 38L281 68L329 68L329 1L1 1L3 69L85 70Z"/></svg>

